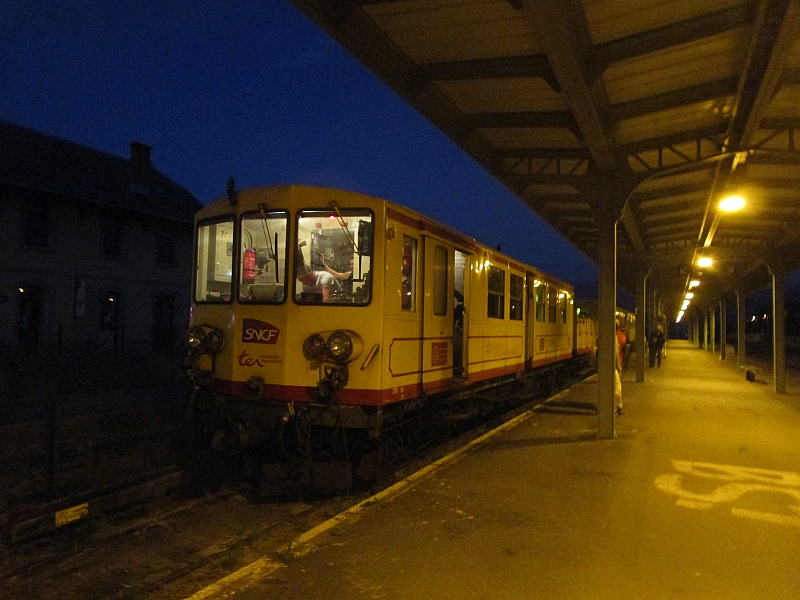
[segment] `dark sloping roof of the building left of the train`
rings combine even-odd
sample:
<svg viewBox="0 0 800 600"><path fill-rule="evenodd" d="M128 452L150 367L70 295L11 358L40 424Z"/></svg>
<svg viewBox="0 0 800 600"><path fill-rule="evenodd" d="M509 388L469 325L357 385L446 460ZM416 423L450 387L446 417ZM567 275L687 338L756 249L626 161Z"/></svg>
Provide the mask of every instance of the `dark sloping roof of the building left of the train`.
<svg viewBox="0 0 800 600"><path fill-rule="evenodd" d="M130 158L0 120L0 184L187 223L202 208L157 170L145 185L132 185L131 172Z"/></svg>

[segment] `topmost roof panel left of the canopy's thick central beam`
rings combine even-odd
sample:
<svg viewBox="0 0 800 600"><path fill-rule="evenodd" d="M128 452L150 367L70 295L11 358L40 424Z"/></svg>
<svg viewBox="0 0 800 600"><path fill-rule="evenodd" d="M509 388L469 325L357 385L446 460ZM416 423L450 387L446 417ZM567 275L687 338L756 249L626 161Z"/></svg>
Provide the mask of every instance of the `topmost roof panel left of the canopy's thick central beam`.
<svg viewBox="0 0 800 600"><path fill-rule="evenodd" d="M364 11L418 64L541 52L525 11L507 0L418 0Z"/></svg>

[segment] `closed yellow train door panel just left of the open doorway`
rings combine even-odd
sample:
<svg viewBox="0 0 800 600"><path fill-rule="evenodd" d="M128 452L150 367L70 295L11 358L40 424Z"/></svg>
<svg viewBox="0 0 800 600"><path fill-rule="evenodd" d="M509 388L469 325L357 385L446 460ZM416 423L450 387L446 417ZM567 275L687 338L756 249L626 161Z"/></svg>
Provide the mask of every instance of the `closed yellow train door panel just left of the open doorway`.
<svg viewBox="0 0 800 600"><path fill-rule="evenodd" d="M449 381L453 376L454 248L425 237L422 384ZM432 386L434 389L437 386Z"/></svg>

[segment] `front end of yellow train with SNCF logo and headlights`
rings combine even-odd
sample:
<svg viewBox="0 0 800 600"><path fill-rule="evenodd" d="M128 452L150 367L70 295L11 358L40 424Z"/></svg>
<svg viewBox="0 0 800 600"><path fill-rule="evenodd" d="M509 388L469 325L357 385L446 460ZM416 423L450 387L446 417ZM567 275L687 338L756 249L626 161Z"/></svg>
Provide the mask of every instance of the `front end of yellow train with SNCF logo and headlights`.
<svg viewBox="0 0 800 600"><path fill-rule="evenodd" d="M360 194L280 186L198 213L186 374L202 444L311 464L349 460L353 431L375 435L382 212Z"/></svg>

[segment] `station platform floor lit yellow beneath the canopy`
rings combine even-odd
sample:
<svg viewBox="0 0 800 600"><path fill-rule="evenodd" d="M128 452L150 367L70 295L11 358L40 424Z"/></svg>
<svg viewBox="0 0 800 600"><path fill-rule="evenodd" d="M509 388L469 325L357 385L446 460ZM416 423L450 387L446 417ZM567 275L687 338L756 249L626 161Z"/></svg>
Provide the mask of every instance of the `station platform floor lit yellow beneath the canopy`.
<svg viewBox="0 0 800 600"><path fill-rule="evenodd" d="M195 597L800 598L798 382L670 341L645 383L623 373L607 440L596 386Z"/></svg>

